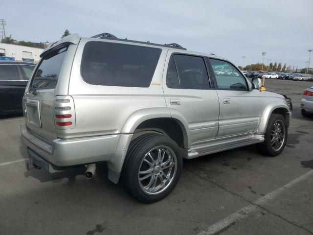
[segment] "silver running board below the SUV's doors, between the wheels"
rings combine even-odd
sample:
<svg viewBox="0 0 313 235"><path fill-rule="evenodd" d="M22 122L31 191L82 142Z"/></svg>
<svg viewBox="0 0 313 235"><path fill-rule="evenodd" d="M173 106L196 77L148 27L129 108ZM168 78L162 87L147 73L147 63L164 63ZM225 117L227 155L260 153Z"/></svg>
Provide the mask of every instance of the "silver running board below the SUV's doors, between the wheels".
<svg viewBox="0 0 313 235"><path fill-rule="evenodd" d="M188 155L186 156L186 158L187 159L197 158L197 157L201 157L207 154L222 152L228 149L243 147L243 146L254 144L254 143L260 143L263 141L264 141L264 136L260 138L251 138L251 139L232 141L232 142L223 141L222 143L215 143L214 145L206 146L202 148L196 148L196 146L193 146L194 148L191 148L188 150Z"/></svg>

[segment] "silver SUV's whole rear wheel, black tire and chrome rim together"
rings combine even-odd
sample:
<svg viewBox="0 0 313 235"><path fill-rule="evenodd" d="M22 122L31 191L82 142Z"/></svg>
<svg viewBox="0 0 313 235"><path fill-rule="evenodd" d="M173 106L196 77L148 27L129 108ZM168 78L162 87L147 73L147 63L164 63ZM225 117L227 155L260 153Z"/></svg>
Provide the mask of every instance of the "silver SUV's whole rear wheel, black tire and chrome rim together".
<svg viewBox="0 0 313 235"><path fill-rule="evenodd" d="M127 154L125 184L134 198L153 203L166 197L177 185L182 157L177 143L168 137L146 134L137 139L132 141Z"/></svg>

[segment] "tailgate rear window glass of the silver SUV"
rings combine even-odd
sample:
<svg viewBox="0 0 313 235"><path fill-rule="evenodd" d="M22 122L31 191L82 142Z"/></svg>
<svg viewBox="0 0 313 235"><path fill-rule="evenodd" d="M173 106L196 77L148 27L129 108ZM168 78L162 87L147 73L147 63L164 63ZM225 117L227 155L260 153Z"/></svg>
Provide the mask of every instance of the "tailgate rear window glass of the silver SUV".
<svg viewBox="0 0 313 235"><path fill-rule="evenodd" d="M56 87L67 47L47 54L40 62L31 88L53 89Z"/></svg>

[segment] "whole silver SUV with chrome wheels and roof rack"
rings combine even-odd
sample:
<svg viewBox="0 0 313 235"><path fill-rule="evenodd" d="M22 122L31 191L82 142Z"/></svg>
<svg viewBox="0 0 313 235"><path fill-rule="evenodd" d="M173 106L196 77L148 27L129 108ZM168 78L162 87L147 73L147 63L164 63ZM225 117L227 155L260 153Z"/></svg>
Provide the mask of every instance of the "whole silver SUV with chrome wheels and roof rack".
<svg viewBox="0 0 313 235"><path fill-rule="evenodd" d="M228 60L178 44L67 36L41 54L23 96L29 168L86 166L92 178L107 162L112 182L156 202L175 188L183 158L249 144L283 151L289 100L260 87Z"/></svg>

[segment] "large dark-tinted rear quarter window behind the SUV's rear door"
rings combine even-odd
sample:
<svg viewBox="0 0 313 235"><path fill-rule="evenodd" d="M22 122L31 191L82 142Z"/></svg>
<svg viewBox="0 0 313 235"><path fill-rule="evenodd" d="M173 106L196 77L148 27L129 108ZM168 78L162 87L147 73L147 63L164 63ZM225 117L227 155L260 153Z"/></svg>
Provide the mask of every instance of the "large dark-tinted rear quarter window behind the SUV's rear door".
<svg viewBox="0 0 313 235"><path fill-rule="evenodd" d="M89 42L83 52L81 74L94 85L149 87L160 54L158 48Z"/></svg>

